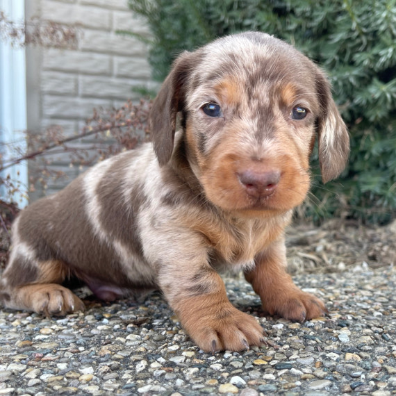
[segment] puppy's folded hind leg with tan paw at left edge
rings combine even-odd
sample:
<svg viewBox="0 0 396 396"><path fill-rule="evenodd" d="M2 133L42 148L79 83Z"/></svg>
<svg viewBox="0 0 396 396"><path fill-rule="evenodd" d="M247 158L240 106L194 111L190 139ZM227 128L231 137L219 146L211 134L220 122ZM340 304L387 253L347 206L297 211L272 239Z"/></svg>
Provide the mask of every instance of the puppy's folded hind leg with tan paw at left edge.
<svg viewBox="0 0 396 396"><path fill-rule="evenodd" d="M21 254L11 255L0 281L3 306L45 315L66 315L84 310L81 299L60 285L69 275L65 263L29 258Z"/></svg>

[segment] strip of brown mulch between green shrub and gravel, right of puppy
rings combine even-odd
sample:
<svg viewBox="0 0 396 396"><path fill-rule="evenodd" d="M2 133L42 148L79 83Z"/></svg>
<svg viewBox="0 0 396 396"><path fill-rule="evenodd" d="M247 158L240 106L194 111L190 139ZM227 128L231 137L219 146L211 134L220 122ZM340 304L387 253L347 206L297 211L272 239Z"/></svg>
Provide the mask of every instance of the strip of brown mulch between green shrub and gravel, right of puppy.
<svg viewBox="0 0 396 396"><path fill-rule="evenodd" d="M340 219L320 227L297 224L288 229L286 240L292 273L396 264L396 220L387 226L363 226Z"/></svg>

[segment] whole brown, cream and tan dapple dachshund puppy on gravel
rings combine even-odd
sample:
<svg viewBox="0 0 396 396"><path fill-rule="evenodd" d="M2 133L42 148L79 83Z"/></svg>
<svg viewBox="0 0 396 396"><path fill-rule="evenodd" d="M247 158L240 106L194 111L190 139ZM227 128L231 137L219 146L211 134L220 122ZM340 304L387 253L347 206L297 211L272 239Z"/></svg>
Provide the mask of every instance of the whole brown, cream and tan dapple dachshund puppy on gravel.
<svg viewBox="0 0 396 396"><path fill-rule="evenodd" d="M69 277L106 301L159 288L201 349L239 351L263 343L263 329L227 299L218 272L228 269L245 273L270 315L322 315L286 273L283 233L308 192L315 138L324 182L347 162L324 73L270 35L230 35L176 59L149 122L152 143L20 213L3 305L82 310L61 286Z"/></svg>

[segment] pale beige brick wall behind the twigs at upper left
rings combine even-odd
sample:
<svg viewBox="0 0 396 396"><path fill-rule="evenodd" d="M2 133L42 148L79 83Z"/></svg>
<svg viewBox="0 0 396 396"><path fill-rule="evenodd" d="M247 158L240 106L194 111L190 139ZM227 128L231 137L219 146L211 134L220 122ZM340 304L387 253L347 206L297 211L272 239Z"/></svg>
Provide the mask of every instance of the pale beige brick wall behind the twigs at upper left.
<svg viewBox="0 0 396 396"><path fill-rule="evenodd" d="M140 95L133 87L154 88L145 44L115 33L128 30L149 35L126 0L27 0L26 19L30 17L76 24L81 35L76 50L26 49L28 129L42 131L56 124L65 133L74 133L94 107L119 106L126 99L137 101ZM57 160L54 167L64 170L69 180L81 172L69 167L67 158ZM47 193L65 183L50 182ZM35 192L31 198L42 194Z"/></svg>

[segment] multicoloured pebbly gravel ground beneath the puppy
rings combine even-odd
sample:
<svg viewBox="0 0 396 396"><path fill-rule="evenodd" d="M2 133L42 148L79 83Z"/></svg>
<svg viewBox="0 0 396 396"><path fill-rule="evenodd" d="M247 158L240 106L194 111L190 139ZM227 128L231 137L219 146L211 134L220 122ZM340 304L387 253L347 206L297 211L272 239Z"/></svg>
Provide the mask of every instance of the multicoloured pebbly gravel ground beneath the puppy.
<svg viewBox="0 0 396 396"><path fill-rule="evenodd" d="M297 275L329 315L304 323L265 317L242 279L231 302L255 315L268 345L206 354L160 294L44 318L0 311L0 395L396 394L396 270L365 265ZM84 290L79 291L84 297Z"/></svg>

